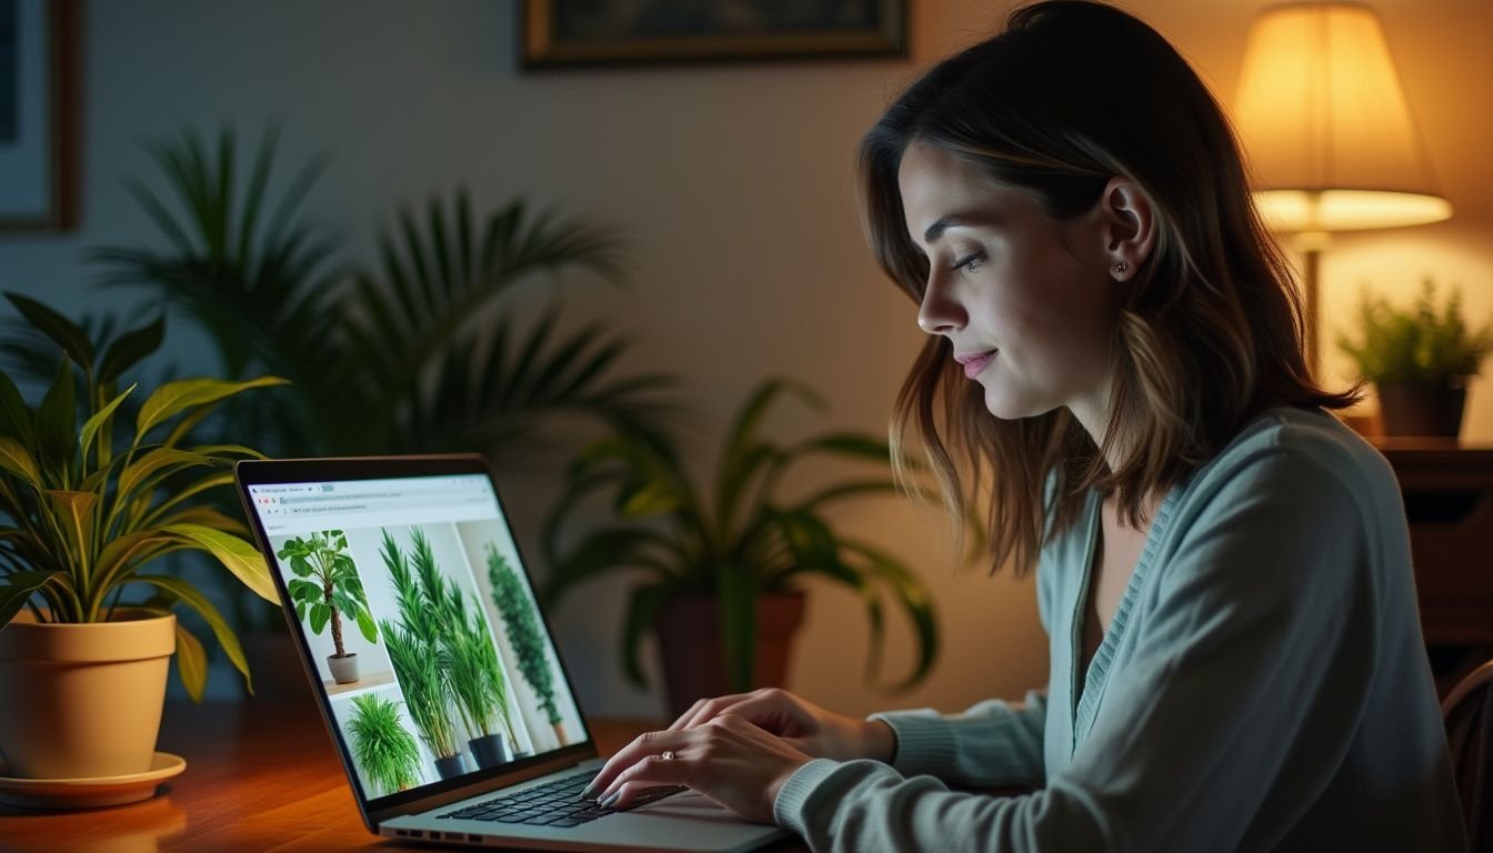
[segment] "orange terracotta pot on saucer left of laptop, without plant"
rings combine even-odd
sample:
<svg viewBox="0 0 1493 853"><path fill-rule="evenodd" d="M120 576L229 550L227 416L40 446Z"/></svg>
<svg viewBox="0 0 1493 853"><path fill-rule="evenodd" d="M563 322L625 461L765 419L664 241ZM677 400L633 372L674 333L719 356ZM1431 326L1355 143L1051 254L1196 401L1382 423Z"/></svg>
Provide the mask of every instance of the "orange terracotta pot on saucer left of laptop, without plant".
<svg viewBox="0 0 1493 853"><path fill-rule="evenodd" d="M161 729L176 617L0 627L0 753L19 778L146 772Z"/></svg>

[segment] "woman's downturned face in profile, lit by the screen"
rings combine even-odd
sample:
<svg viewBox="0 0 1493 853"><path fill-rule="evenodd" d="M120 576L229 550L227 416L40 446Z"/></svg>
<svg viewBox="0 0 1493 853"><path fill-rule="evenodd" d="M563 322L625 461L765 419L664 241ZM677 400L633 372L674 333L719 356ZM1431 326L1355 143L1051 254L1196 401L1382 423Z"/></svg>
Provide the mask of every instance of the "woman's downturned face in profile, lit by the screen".
<svg viewBox="0 0 1493 853"><path fill-rule="evenodd" d="M1067 406L1097 435L1118 321L1099 200L1060 223L1030 191L918 143L902 157L899 185L912 244L929 258L918 326L950 339L993 415Z"/></svg>

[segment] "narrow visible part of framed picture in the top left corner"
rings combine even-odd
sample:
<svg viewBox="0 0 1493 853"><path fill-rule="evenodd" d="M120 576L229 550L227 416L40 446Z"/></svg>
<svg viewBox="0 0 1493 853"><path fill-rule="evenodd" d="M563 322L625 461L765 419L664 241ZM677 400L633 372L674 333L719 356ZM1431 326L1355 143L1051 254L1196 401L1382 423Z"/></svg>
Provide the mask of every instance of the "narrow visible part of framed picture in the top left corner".
<svg viewBox="0 0 1493 853"><path fill-rule="evenodd" d="M76 223L78 0L0 0L0 232Z"/></svg>

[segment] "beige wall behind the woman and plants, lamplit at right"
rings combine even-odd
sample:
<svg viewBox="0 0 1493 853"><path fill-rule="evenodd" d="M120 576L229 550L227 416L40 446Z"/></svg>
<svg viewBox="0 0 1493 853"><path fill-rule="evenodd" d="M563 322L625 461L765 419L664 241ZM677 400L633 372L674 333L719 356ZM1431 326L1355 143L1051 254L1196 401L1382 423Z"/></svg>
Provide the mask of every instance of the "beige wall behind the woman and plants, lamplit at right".
<svg viewBox="0 0 1493 853"><path fill-rule="evenodd" d="M367 258L373 229L400 200L469 184L479 202L512 193L584 209L630 236L633 287L581 287L576 317L614 315L635 332L636 367L681 370L718 432L760 376L799 375L833 403L829 421L788 408L785 435L814 426L881 430L920 333L912 306L872 264L855 220L851 152L887 99L936 57L999 21L1006 3L911 0L909 61L766 63L524 75L514 18L491 1L87 4L84 224L60 238L0 239L0 285L81 309L97 303L87 246L152 241L118 178L140 173L143 136L184 124L282 125L287 163L328 149L311 203L318 223ZM1259 0L1153 0L1151 19L1227 96ZM1487 167L1493 3L1377 0L1457 217L1444 226L1344 239L1324 261L1329 323L1360 279L1412 287L1421 273L1460 282L1493 315L1493 172ZM1124 69L1115 69L1123 75ZM1136 97L1144 97L1138 93ZM1165 131L1163 128L1157 130ZM130 305L109 294L105 305ZM178 326L172 354L211 370L199 336ZM1341 373L1341 365L1329 365ZM1472 391L1468 435L1493 439L1493 387ZM702 451L694 456L705 462ZM521 539L551 490L518 487ZM906 556L935 589L945 654L918 690L896 698L860 681L866 624L855 602L815 589L791 687L853 713L885 705L960 707L1017 696L1045 678L1030 583L954 572L936 520L864 505L847 529ZM623 583L578 593L557 615L582 704L655 714L615 665ZM820 595L823 592L823 595ZM908 663L891 629L893 672ZM231 680L219 678L218 684Z"/></svg>

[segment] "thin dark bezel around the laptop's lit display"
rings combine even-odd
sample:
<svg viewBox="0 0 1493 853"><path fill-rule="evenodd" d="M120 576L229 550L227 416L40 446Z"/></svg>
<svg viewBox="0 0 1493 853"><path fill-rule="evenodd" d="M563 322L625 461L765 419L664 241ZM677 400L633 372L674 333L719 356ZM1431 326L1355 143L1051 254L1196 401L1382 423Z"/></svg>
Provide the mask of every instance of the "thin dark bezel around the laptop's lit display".
<svg viewBox="0 0 1493 853"><path fill-rule="evenodd" d="M518 535L508 521L508 512L503 509L503 496L497 486L497 478L493 474L491 466L487 459L478 454L448 454L448 456L399 456L399 457L339 457L339 459L279 459L279 460L240 460L234 466L234 477L239 486L239 499L243 502L245 515L248 515L249 524L254 529L255 541L261 550L266 566L269 568L270 577L275 581L275 590L279 595L281 614L285 617L285 623L290 627L291 638L296 642L296 648L300 654L302 668L306 672L306 678L311 681L312 695L317 696L317 707L321 710L322 722L327 725L327 731L331 735L331 741L337 748L337 757L342 760L342 768L352 783L352 792L358 802L358 808L363 811L364 823L369 829L378 832L378 820L385 819L393 814L408 814L411 811L423 811L424 808L433 808L442 802L463 799L481 790L494 787L493 781L521 781L524 778L532 778L551 772L552 769L570 766L581 760L587 760L597 756L596 741L593 739L591 726L587 722L585 708L581 707L581 699L576 695L575 684L570 681L570 672L566 668L564 657L555 650L555 662L560 665L560 678L564 683L566 690L570 692L570 699L575 702L576 716L581 720L581 729L585 735L584 739L561 747L558 750L551 750L546 753L529 756L521 760L515 760L497 768L479 768L472 772L463 774L460 777L439 780L426 783L412 790L405 790L399 793L385 795L381 798L369 798L367 792L363 790L363 780L357 772L357 765L352 760L352 753L349 744L342 736L342 731L337 726L336 716L331 710L331 698L327 695L325 689L321 686L321 677L315 666L315 657L311 651L311 644L306 639L306 633L300 629L300 623L296 620L296 608L291 604L290 592L285 584L285 578L275 565L275 554L270 550L269 533L264 530L264 523L260 518L258 511L254 508L254 500L249 497L251 486L281 486L291 483L325 483L325 481L355 481L355 480L384 480L384 478L414 478L414 477L443 477L443 475L463 475L463 474L479 474L487 477L488 486L493 488L493 496L497 500L499 520L509 526L509 535L514 539L514 550L518 554L518 562L524 571L524 577L529 580L532 589L536 590L533 574L529 569L529 560L524 557L523 547L518 542ZM537 598L537 595L536 595ZM549 627L549 617L545 614L543 608L539 609L539 618L543 624L545 633L554 641L554 632ZM415 804L420 804L418 807Z"/></svg>

